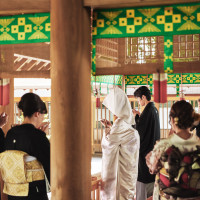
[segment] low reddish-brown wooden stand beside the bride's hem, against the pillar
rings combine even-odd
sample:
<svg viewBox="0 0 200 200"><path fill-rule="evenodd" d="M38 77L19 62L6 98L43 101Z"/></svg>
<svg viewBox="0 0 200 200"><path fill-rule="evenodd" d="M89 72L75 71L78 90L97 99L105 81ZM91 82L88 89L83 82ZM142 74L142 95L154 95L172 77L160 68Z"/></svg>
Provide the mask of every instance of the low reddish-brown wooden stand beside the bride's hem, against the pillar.
<svg viewBox="0 0 200 200"><path fill-rule="evenodd" d="M92 175L91 184L91 200L100 200L101 175Z"/></svg>

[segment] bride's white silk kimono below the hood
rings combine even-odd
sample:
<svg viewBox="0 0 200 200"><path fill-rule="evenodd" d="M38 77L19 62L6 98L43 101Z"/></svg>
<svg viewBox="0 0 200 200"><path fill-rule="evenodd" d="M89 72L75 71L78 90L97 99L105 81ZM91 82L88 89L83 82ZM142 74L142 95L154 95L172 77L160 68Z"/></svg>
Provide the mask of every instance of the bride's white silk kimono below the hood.
<svg viewBox="0 0 200 200"><path fill-rule="evenodd" d="M133 200L138 175L139 135L121 119L102 138L102 200Z"/></svg>

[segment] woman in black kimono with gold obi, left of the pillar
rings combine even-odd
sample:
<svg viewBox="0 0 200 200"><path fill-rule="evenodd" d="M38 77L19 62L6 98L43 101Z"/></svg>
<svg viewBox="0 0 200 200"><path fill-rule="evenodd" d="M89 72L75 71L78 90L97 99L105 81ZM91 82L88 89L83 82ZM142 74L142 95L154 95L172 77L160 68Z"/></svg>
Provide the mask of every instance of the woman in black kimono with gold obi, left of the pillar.
<svg viewBox="0 0 200 200"><path fill-rule="evenodd" d="M8 194L8 200L48 200L45 174L50 181L50 143L43 131L45 127L41 128L47 109L45 103L34 93L24 94L18 107L23 111L24 121L8 131L5 139L7 151L3 153L4 157L1 157L1 164L7 157L10 159L12 156L19 158L19 161L25 160L22 165L24 164L27 170L27 173L25 172L27 180L17 180L17 176L23 172L19 170L21 164L11 162L9 169L6 167L3 169L5 173L2 177L3 180L6 179L3 191ZM23 159L20 160L20 156L23 156ZM16 169L15 165L18 165ZM18 175L14 179L6 176L9 172Z"/></svg>

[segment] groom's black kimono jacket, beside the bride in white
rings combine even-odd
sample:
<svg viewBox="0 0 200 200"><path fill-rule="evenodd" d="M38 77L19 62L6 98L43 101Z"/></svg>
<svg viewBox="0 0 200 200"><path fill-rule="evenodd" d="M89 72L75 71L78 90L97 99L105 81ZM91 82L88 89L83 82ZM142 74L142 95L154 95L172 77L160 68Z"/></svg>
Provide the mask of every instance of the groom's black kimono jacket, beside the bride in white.
<svg viewBox="0 0 200 200"><path fill-rule="evenodd" d="M138 181L151 183L155 181L155 175L149 173L145 157L153 150L156 141L160 139L160 120L154 103L149 102L140 117L136 115L135 121L136 129L140 135Z"/></svg>

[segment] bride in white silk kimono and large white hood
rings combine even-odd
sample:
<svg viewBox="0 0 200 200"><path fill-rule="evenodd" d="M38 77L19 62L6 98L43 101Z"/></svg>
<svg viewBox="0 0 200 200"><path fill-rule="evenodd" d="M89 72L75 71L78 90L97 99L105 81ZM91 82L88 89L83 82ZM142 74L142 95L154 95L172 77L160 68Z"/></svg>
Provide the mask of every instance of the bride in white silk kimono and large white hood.
<svg viewBox="0 0 200 200"><path fill-rule="evenodd" d="M105 126L102 138L102 190L101 200L133 200L138 174L140 139L133 129L135 124L127 95L115 87L103 104L117 116L113 126Z"/></svg>

